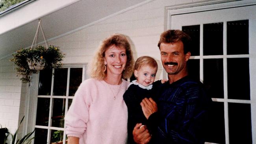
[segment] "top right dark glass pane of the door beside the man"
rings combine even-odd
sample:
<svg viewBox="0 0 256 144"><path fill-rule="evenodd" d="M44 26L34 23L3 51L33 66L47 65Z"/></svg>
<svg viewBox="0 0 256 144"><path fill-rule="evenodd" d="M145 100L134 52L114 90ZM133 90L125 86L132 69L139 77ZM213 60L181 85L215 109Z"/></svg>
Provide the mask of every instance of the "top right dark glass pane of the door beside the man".
<svg viewBox="0 0 256 144"><path fill-rule="evenodd" d="M249 54L249 20L227 22L227 54Z"/></svg>

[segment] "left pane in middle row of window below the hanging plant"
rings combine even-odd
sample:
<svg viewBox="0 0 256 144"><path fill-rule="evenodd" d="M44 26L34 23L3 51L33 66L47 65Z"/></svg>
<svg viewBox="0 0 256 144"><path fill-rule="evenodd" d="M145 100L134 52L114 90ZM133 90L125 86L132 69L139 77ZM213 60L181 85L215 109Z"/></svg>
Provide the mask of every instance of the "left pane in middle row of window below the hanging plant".
<svg viewBox="0 0 256 144"><path fill-rule="evenodd" d="M35 124L38 126L48 126L49 122L50 98L38 98L37 118Z"/></svg>

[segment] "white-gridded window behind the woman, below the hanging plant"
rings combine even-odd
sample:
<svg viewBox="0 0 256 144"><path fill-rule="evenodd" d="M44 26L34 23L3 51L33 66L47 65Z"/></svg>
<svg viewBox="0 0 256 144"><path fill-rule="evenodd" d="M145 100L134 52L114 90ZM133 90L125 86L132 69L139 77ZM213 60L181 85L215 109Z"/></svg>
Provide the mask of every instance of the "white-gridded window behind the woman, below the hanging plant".
<svg viewBox="0 0 256 144"><path fill-rule="evenodd" d="M41 70L37 94L35 144L65 144L64 117L85 79L84 66ZM59 143L60 142L60 143Z"/></svg>

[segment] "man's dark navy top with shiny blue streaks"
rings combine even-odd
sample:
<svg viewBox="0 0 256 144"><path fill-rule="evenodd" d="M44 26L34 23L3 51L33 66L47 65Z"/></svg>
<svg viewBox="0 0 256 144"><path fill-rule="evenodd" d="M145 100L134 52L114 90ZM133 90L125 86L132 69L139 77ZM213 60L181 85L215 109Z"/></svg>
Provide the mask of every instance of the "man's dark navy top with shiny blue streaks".
<svg viewBox="0 0 256 144"><path fill-rule="evenodd" d="M165 83L157 97L158 112L150 115L154 127L150 144L204 144L211 98L204 86L186 76Z"/></svg>

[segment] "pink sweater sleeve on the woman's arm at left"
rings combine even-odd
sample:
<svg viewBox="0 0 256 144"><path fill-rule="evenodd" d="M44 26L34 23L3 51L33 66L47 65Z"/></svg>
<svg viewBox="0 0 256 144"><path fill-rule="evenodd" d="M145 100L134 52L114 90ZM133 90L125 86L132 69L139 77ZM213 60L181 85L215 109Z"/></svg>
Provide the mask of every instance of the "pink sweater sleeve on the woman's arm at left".
<svg viewBox="0 0 256 144"><path fill-rule="evenodd" d="M92 80L86 80L78 87L74 99L65 116L65 132L67 136L81 137L86 131L89 120L89 107L92 103Z"/></svg>

